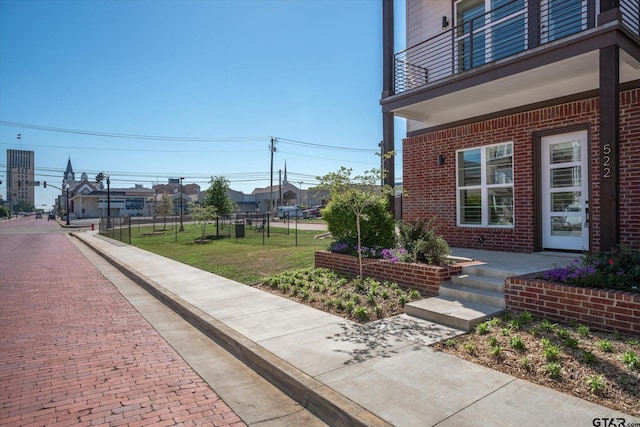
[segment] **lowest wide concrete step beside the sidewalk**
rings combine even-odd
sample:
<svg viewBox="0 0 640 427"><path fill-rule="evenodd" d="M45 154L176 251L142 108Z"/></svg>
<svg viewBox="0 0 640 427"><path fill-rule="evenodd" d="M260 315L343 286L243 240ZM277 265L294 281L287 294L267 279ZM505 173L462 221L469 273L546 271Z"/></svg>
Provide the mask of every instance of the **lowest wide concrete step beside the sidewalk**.
<svg viewBox="0 0 640 427"><path fill-rule="evenodd" d="M409 316L467 332L478 323L504 312L502 308L445 297L414 301L406 304L404 309Z"/></svg>

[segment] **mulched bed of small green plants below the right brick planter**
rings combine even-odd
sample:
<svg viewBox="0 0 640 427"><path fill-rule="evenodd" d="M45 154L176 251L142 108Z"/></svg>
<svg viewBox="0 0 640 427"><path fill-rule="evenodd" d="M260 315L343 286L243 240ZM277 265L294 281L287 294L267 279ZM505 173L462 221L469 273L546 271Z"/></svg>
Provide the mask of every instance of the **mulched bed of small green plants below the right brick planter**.
<svg viewBox="0 0 640 427"><path fill-rule="evenodd" d="M640 341L635 337L507 311L433 347L640 417Z"/></svg>

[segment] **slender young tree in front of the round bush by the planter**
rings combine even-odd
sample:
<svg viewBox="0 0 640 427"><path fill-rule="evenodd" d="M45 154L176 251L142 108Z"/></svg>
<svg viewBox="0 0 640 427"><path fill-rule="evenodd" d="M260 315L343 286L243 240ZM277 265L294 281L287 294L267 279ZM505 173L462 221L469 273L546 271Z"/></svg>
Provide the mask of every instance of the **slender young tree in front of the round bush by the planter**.
<svg viewBox="0 0 640 427"><path fill-rule="evenodd" d="M393 156L393 153L385 155L385 158ZM365 171L363 175L352 177L353 170L344 166L337 172L330 172L322 177L319 187L328 190L331 199L340 199L352 210L356 217L356 235L358 240L358 264L360 277L362 278L362 232L361 223L368 221L366 211L369 207L380 202L382 198L393 195L394 189L388 185L380 185L381 178L386 172L380 169Z"/></svg>

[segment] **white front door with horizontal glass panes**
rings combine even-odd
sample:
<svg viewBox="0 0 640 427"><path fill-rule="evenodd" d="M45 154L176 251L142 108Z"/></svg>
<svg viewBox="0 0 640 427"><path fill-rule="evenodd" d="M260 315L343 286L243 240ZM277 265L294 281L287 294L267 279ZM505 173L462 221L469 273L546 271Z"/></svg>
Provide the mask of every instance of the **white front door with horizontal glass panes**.
<svg viewBox="0 0 640 427"><path fill-rule="evenodd" d="M589 250L586 131L542 138L542 247Z"/></svg>

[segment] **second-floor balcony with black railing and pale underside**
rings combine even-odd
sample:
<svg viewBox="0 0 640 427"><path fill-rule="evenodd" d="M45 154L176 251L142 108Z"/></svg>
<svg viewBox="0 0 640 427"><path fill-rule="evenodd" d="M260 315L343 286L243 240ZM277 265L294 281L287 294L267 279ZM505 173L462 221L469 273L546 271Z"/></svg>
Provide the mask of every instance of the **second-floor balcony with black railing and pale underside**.
<svg viewBox="0 0 640 427"><path fill-rule="evenodd" d="M622 45L620 82L638 80L640 6L621 0L619 12L602 22L593 0L513 0L469 13L395 55L394 94L383 111L437 126L596 90L598 49L612 40Z"/></svg>

